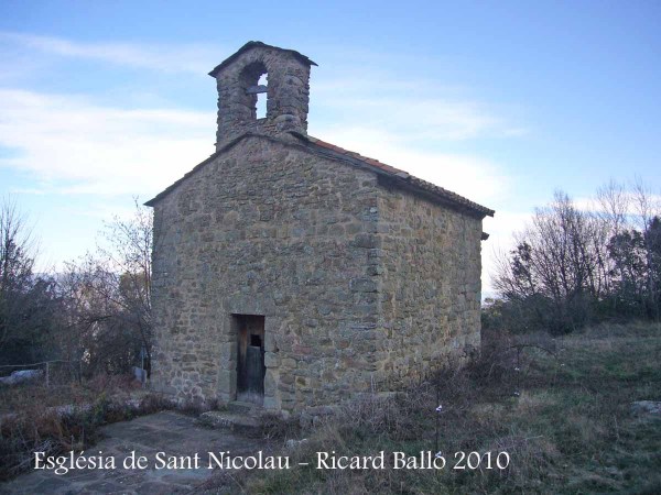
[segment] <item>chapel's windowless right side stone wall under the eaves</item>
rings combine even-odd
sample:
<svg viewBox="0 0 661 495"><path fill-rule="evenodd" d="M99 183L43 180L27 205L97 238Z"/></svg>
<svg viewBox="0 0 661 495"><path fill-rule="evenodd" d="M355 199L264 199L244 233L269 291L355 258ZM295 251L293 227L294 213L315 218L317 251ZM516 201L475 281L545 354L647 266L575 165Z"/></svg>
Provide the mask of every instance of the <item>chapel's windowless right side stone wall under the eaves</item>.
<svg viewBox="0 0 661 495"><path fill-rule="evenodd" d="M379 188L379 378L405 384L479 349L481 219Z"/></svg>

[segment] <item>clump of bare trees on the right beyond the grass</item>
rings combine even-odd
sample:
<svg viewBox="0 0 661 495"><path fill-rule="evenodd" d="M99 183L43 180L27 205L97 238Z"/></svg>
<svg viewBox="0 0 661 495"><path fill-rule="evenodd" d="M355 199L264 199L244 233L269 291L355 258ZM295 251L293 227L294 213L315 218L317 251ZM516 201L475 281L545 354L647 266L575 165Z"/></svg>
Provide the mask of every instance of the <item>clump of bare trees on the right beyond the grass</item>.
<svg viewBox="0 0 661 495"><path fill-rule="evenodd" d="M659 319L661 208L641 182L615 182L578 208L556 193L499 256L495 287L500 314L559 331L604 317ZM531 323L531 321L533 323Z"/></svg>

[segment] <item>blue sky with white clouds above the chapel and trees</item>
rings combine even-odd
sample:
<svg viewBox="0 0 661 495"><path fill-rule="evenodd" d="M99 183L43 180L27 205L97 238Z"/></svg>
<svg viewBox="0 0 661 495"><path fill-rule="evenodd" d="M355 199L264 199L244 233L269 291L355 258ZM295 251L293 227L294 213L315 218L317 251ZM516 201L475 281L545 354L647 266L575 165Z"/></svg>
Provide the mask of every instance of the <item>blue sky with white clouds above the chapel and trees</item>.
<svg viewBox="0 0 661 495"><path fill-rule="evenodd" d="M213 153L207 76L314 59L310 133L497 210L485 271L555 189L661 188L661 2L0 1L0 196L42 266ZM486 288L489 287L485 273Z"/></svg>

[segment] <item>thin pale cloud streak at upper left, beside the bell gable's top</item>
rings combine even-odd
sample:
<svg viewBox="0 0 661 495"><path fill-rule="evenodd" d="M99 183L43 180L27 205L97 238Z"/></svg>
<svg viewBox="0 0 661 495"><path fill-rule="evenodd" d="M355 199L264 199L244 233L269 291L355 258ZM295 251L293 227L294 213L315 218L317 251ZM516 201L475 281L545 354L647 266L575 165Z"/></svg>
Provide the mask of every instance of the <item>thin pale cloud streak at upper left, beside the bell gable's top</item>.
<svg viewBox="0 0 661 495"><path fill-rule="evenodd" d="M129 67L198 75L214 68L218 55L225 53L219 47L205 44L78 43L62 37L13 32L0 32L0 41L61 57L86 58Z"/></svg>

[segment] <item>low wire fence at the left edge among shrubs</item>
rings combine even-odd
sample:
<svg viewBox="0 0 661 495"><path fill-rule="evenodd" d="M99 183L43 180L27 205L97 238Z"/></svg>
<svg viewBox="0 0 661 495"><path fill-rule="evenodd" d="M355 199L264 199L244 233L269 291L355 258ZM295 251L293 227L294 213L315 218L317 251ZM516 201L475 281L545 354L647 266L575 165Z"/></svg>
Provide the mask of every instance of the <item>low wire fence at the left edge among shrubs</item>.
<svg viewBox="0 0 661 495"><path fill-rule="evenodd" d="M40 383L45 386L80 383L82 361L51 360L29 364L0 364L0 385Z"/></svg>

